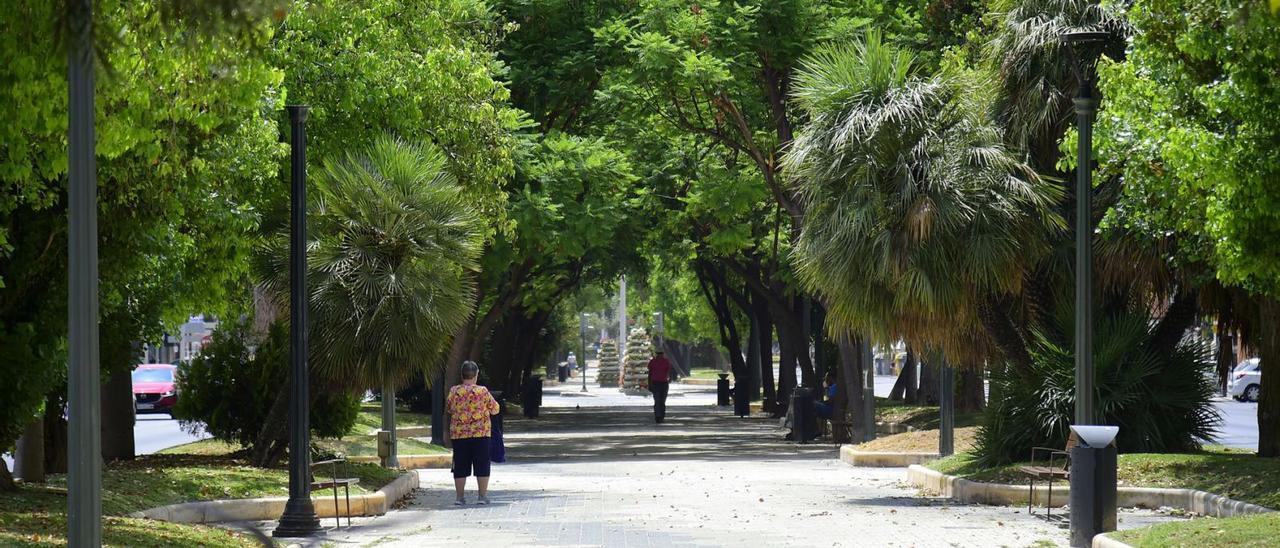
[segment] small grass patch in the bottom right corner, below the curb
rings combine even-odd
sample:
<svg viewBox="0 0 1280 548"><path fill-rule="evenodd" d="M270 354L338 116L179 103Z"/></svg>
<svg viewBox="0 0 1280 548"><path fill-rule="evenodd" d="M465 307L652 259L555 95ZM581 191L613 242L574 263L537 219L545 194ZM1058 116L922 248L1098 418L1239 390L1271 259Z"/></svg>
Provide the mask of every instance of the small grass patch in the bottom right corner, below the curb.
<svg viewBox="0 0 1280 548"><path fill-rule="evenodd" d="M1204 517L1112 533L1130 545L1143 547L1274 547L1280 539L1280 513L1239 517Z"/></svg>

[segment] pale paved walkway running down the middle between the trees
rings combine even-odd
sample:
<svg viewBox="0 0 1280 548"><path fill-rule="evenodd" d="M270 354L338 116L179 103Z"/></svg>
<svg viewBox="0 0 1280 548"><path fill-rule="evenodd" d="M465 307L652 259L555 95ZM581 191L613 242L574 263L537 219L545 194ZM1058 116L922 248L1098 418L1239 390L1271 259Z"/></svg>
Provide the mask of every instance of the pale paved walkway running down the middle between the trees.
<svg viewBox="0 0 1280 548"><path fill-rule="evenodd" d="M449 472L424 470L424 489L404 508L357 520L323 543L1027 547L1066 539L1064 524L1025 510L920 498L902 484L902 469L855 469L835 460L829 444L783 442L777 421L705 405L713 391L673 387L682 396L672 397L662 425L644 397L602 393L598 402L611 405L595 406L567 401L590 396L548 391L541 417L508 417L509 460L494 465L492 506L452 506ZM1125 512L1120 525L1164 519Z"/></svg>

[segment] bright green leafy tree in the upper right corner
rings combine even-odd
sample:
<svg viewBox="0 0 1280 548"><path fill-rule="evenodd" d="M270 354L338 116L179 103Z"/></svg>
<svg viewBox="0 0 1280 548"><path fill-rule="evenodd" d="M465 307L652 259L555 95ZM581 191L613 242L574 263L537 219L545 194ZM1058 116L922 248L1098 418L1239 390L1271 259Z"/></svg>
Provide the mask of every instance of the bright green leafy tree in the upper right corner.
<svg viewBox="0 0 1280 548"><path fill-rule="evenodd" d="M1128 60L1102 69L1103 173L1124 182L1124 224L1175 234L1181 264L1203 264L1252 293L1240 310L1262 357L1258 455L1280 456L1280 19L1260 3L1153 0L1129 12Z"/></svg>

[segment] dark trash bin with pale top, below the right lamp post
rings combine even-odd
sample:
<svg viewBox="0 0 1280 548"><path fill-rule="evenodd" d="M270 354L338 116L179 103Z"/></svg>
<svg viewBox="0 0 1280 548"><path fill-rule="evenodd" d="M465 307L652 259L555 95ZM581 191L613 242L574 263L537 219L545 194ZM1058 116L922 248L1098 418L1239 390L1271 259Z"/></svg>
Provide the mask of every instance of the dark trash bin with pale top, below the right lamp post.
<svg viewBox="0 0 1280 548"><path fill-rule="evenodd" d="M1071 545L1116 530L1116 434L1119 426L1071 426Z"/></svg>

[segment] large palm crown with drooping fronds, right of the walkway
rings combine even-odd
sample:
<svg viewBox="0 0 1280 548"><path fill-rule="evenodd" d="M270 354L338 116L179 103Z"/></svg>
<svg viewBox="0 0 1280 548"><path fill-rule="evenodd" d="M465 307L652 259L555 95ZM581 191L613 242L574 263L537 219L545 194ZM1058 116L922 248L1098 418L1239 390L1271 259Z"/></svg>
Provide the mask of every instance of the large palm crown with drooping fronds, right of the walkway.
<svg viewBox="0 0 1280 548"><path fill-rule="evenodd" d="M877 33L803 64L809 123L785 160L808 211L795 259L833 328L968 364L991 352L979 306L1043 254L1028 225L1061 219L1060 191L1005 147L980 81L922 74Z"/></svg>

